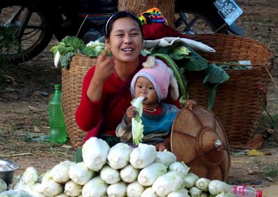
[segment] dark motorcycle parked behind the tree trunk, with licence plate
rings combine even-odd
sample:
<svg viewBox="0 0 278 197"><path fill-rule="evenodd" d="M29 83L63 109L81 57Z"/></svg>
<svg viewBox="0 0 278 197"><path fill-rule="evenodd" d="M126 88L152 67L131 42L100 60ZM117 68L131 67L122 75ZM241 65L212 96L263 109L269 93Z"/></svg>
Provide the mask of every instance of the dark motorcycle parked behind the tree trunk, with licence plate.
<svg viewBox="0 0 278 197"><path fill-rule="evenodd" d="M243 30L236 22L227 24L223 11L219 5L215 6L217 1L222 3L232 0L186 3L176 0L174 28L186 35L243 35ZM225 8L224 10L227 11ZM7 58L10 62L17 63L31 60L47 47L53 35L58 41L66 35L75 35L85 43L97 40L103 35L106 20L116 11L117 0L82 0L71 3L65 0L1 0L0 60ZM10 42L7 44L5 40Z"/></svg>

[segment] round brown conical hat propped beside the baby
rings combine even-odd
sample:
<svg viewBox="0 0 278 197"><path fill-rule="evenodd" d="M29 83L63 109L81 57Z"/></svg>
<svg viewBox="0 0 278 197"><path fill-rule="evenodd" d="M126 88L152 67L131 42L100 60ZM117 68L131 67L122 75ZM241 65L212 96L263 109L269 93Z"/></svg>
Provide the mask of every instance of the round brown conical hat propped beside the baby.
<svg viewBox="0 0 278 197"><path fill-rule="evenodd" d="M226 180L230 167L227 137L218 118L201 106L182 108L171 132L172 153L200 178Z"/></svg>

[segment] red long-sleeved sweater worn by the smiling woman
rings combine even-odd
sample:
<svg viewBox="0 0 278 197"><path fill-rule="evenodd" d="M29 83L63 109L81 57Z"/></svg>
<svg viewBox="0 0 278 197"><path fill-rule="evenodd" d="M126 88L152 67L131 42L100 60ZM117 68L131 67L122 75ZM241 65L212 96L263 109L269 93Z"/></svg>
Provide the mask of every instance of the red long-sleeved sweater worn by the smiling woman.
<svg viewBox="0 0 278 197"><path fill-rule="evenodd" d="M140 59L142 60L142 56L140 56ZM117 76L117 73L113 73L111 77L104 83L101 99L99 101L90 101L87 97L87 89L94 73L95 67L92 67L85 75L83 80L81 103L79 104L75 114L76 122L81 130L88 131L83 142L85 142L90 137L97 136L96 127L104 117L104 114L105 121L103 123L103 129L101 132L104 132L106 135L115 136L115 129L117 128L117 125L121 123L126 109L131 105L131 92L129 89L126 89L113 108L107 109L108 103L113 101L115 94L117 94L122 85L124 85L124 81L122 81L122 79ZM178 108L181 107L179 105L179 101L172 101L170 99L167 100L167 103L177 105Z"/></svg>

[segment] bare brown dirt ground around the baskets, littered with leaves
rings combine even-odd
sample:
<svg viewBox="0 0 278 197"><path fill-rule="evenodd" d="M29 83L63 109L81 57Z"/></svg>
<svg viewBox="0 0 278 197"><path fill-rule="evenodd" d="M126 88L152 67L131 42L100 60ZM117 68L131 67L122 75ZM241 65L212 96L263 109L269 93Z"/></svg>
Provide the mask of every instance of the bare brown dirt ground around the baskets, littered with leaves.
<svg viewBox="0 0 278 197"><path fill-rule="evenodd" d="M262 42L278 54L278 1L237 1L243 8L238 24L243 26L245 37ZM58 162L73 160L74 150L69 142L53 145L48 142L30 142L34 137L49 133L48 103L54 84L61 83L61 71L54 67L51 46L54 39L38 57L21 65L0 69L0 157L17 162L21 175L28 166L41 173ZM278 60L273 74L278 84ZM278 118L278 89L270 85L268 108ZM270 119L263 114L257 132L263 132ZM278 122L277 122L278 124ZM263 196L278 196L278 130L259 150L264 155L249 156L247 150L231 149L231 169L227 182L253 185L263 189Z"/></svg>

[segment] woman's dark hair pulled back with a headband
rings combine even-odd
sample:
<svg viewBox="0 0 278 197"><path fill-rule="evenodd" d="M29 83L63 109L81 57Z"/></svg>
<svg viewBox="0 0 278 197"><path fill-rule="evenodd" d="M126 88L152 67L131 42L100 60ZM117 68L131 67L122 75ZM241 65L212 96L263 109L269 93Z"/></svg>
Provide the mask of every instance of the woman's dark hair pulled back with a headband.
<svg viewBox="0 0 278 197"><path fill-rule="evenodd" d="M142 33L142 25L140 23L140 20L138 19L138 17L135 14L133 14L132 12L129 12L129 11L118 11L118 12L115 12L115 14L113 14L106 22L106 26L105 26L105 30L104 30L105 31L104 35L106 38L108 38L110 36L114 22L117 19L124 18L124 17L130 17L131 19L133 19L140 27L140 31Z"/></svg>

